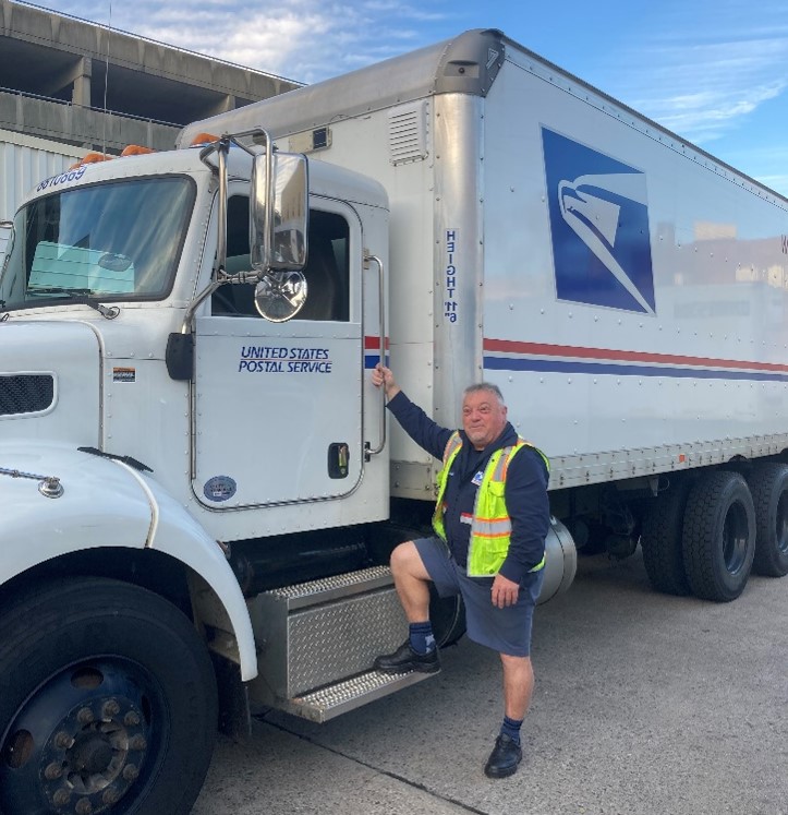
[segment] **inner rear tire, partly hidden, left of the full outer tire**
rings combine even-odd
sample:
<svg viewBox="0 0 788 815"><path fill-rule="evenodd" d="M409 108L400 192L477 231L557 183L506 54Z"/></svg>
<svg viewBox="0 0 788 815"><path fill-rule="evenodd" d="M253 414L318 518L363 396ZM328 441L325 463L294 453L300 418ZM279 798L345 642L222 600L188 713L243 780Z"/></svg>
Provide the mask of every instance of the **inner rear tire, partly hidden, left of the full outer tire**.
<svg viewBox="0 0 788 815"><path fill-rule="evenodd" d="M677 597L689 595L691 590L681 544L689 491L690 483L679 481L658 495L646 512L640 536L651 585L656 591Z"/></svg>

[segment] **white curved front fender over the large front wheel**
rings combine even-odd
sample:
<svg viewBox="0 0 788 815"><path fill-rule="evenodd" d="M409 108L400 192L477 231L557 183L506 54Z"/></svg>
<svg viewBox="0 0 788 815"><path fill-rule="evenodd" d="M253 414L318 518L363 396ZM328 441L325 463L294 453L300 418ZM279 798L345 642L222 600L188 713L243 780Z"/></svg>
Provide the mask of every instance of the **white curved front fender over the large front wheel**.
<svg viewBox="0 0 788 815"><path fill-rule="evenodd" d="M0 583L80 550L158 549L216 592L238 643L241 678L257 674L246 602L221 548L161 484L122 462L50 444L0 445ZM39 490L45 477L59 479L61 495Z"/></svg>

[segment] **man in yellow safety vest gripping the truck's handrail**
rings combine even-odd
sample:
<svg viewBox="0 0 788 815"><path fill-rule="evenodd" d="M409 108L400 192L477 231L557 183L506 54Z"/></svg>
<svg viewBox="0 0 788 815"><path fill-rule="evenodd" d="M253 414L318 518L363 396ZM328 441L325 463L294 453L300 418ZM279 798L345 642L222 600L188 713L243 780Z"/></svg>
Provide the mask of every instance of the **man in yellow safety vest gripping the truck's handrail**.
<svg viewBox="0 0 788 815"><path fill-rule="evenodd" d="M389 410L413 441L444 462L433 518L438 537L407 541L391 553L409 638L393 654L378 657L375 668L438 671L428 583L441 597L461 594L468 636L500 655L505 716L484 770L505 778L522 759L520 728L534 685L531 622L549 529L547 459L507 421L496 385L465 389L462 430L452 431L414 405L388 368L378 363L372 382L385 388Z"/></svg>

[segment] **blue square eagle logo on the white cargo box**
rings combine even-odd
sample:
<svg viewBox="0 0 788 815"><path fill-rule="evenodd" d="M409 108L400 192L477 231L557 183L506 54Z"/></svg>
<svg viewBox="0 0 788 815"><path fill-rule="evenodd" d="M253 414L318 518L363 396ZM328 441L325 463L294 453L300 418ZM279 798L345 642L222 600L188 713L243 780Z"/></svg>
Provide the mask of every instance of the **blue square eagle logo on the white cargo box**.
<svg viewBox="0 0 788 815"><path fill-rule="evenodd" d="M559 300L654 314L642 170L542 128Z"/></svg>

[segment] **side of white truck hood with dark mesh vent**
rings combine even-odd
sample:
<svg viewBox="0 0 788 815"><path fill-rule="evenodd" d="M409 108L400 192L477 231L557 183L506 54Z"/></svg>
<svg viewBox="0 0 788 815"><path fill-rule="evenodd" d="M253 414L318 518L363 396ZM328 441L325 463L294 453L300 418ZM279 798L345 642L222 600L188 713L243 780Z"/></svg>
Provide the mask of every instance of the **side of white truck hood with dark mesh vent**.
<svg viewBox="0 0 788 815"><path fill-rule="evenodd" d="M88 323L0 323L0 443L98 446L100 382L99 339Z"/></svg>

